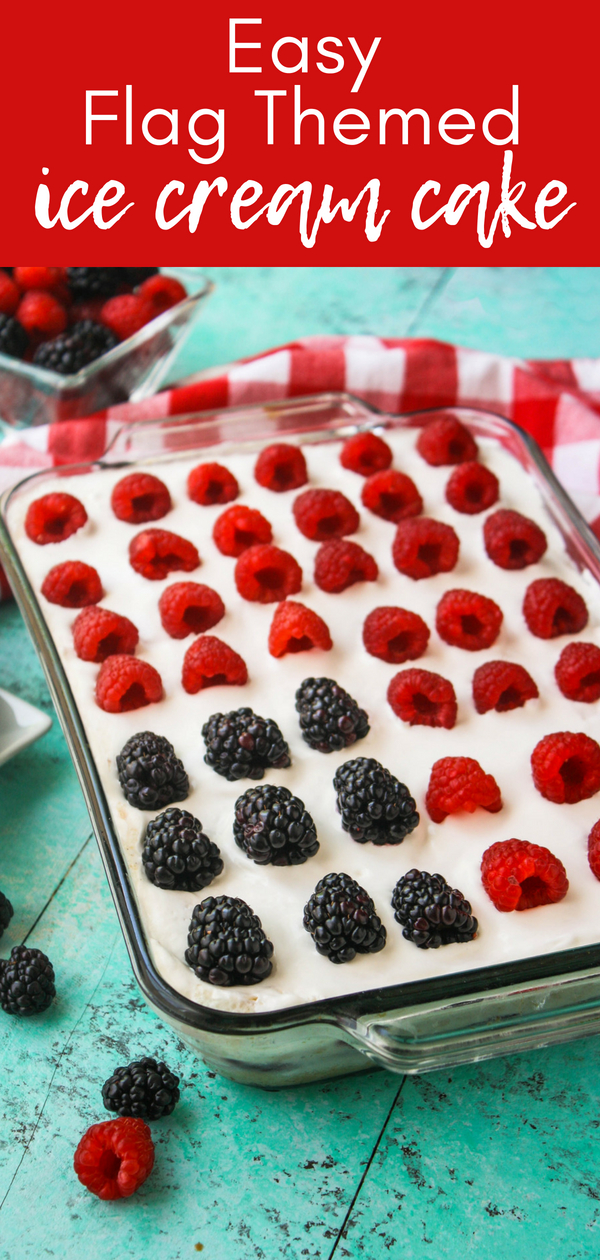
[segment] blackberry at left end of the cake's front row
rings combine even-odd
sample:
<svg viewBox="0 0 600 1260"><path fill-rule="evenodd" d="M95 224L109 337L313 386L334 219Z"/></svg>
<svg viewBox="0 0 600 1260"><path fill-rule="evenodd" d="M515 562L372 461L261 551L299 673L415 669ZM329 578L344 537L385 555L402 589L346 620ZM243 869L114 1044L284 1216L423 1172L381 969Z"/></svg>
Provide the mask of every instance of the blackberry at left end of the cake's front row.
<svg viewBox="0 0 600 1260"><path fill-rule="evenodd" d="M200 980L258 984L271 975L272 953L258 915L241 897L205 897L195 906L185 961Z"/></svg>

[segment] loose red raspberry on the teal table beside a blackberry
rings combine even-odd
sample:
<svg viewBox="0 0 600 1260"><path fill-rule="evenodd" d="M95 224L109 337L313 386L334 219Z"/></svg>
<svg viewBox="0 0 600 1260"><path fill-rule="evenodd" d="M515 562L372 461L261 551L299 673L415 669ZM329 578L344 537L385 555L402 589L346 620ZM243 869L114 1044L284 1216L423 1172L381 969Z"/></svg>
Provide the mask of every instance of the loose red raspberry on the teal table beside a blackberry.
<svg viewBox="0 0 600 1260"><path fill-rule="evenodd" d="M73 1159L77 1177L98 1198L129 1198L154 1168L150 1129L139 1116L92 1124Z"/></svg>

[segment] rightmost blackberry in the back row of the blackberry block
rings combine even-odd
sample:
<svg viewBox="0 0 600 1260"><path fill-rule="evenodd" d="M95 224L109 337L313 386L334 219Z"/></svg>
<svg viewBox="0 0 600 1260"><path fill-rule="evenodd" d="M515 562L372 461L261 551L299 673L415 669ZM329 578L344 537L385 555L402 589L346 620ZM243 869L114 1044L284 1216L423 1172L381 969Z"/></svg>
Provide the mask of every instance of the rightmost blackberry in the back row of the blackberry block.
<svg viewBox="0 0 600 1260"><path fill-rule="evenodd" d="M318 752L348 748L369 732L364 709L333 678L305 678L296 692L303 740Z"/></svg>

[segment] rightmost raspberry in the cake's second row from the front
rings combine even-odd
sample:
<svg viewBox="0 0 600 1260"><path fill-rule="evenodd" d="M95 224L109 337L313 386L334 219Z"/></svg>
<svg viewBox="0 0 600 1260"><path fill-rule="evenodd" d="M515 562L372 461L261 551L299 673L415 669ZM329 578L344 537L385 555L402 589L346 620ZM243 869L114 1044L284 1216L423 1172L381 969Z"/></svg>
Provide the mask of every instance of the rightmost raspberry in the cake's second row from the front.
<svg viewBox="0 0 600 1260"><path fill-rule="evenodd" d="M533 782L555 805L575 805L600 788L600 746L581 731L557 731L536 743L531 755Z"/></svg>

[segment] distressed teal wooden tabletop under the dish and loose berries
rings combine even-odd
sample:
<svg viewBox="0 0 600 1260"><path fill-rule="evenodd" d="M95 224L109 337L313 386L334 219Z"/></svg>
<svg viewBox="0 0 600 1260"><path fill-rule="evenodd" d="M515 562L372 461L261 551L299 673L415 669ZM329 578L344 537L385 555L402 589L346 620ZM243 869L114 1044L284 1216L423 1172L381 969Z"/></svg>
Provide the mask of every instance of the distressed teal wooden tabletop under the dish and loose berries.
<svg viewBox="0 0 600 1260"><path fill-rule="evenodd" d="M311 331L435 335L524 357L600 353L595 270L227 270L173 375ZM0 685L52 711L14 606ZM54 961L58 999L0 1019L0 1260L541 1260L600 1255L600 1041L280 1094L209 1072L132 979L58 723L0 769L1 941ZM1 1013L0 1013L1 1014ZM140 1193L101 1203L72 1155L120 1063L159 1055L183 1096Z"/></svg>

